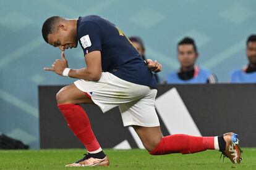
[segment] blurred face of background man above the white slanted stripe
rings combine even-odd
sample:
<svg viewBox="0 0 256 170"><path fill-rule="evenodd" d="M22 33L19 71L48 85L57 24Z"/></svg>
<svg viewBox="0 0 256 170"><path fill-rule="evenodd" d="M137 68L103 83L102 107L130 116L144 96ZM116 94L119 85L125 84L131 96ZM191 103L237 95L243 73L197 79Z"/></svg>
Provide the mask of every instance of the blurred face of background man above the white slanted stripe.
<svg viewBox="0 0 256 170"><path fill-rule="evenodd" d="M178 60L182 68L194 67L197 53L192 44L182 44L177 48Z"/></svg>

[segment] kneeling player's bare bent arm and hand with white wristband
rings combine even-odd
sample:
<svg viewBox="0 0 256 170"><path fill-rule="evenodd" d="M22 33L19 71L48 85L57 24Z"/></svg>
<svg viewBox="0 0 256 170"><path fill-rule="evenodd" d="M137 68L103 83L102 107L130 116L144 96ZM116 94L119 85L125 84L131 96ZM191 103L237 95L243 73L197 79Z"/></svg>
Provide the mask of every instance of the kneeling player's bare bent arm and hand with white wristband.
<svg viewBox="0 0 256 170"><path fill-rule="evenodd" d="M64 52L62 52L62 59L55 60L52 68L44 68L46 71L53 71L58 75L62 75L65 68L67 68L67 60ZM86 68L70 69L69 77L77 79L85 79L89 81L98 81L101 77L101 52L92 51L85 55Z"/></svg>

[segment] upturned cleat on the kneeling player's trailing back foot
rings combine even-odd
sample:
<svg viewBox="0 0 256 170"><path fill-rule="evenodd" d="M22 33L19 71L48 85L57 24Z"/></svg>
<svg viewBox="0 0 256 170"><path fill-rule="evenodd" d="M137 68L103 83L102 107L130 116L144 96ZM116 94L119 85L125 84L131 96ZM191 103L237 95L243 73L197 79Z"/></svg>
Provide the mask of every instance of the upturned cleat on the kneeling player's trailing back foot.
<svg viewBox="0 0 256 170"><path fill-rule="evenodd" d="M224 150L224 152L222 152L223 159L224 157L228 157L229 160L231 160L232 163L241 163L242 161L242 150L239 147L239 139L238 139L238 135L233 133L233 132L229 132L223 135L223 138L226 142L226 148Z"/></svg>

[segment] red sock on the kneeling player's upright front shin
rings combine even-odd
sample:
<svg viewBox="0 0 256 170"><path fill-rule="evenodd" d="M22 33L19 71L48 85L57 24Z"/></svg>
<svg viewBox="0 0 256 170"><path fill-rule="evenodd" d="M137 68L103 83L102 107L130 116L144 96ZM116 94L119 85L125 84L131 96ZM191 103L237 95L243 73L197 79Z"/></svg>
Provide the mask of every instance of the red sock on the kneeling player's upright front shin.
<svg viewBox="0 0 256 170"><path fill-rule="evenodd" d="M88 152L100 152L101 147L93 134L90 120L80 105L58 104L59 110L64 115L67 125L75 136L85 145Z"/></svg>

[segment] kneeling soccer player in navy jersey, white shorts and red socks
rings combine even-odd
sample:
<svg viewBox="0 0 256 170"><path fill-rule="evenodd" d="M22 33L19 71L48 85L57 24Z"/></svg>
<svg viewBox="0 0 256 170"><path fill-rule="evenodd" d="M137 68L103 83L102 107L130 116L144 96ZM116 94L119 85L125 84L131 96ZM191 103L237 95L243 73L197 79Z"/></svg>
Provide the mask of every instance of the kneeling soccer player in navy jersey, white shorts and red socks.
<svg viewBox="0 0 256 170"><path fill-rule="evenodd" d="M146 64L130 40L113 23L96 15L72 20L50 17L43 23L42 34L48 44L62 51L61 59L55 60L51 68L45 70L79 79L63 87L56 95L59 110L68 126L88 151L81 160L67 166L109 165L108 157L79 103L95 103L103 112L118 106L124 126L134 127L151 155L210 149L220 150L233 163L241 162L237 135L232 132L216 137L162 136L155 111L156 80L151 72L160 71L161 65L151 60ZM64 51L77 47L78 42L87 67L71 69Z"/></svg>

